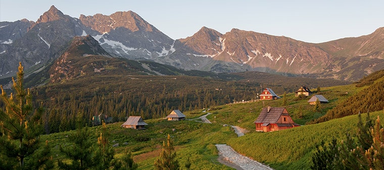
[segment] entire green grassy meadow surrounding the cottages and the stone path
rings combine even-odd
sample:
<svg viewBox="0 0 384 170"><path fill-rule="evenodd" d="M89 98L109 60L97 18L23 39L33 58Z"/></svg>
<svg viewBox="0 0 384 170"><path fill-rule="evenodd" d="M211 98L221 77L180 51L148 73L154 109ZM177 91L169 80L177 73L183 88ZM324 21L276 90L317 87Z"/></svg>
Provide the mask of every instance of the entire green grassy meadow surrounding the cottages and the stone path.
<svg viewBox="0 0 384 170"><path fill-rule="evenodd" d="M282 106L283 99L279 99L212 107L207 111L212 113L207 116L212 124L188 120L167 121L159 118L145 120L149 124L145 130L134 130L121 128L123 122L117 122L107 125L111 133L109 141L111 145L119 143L119 146L114 147L115 157L122 156L125 151L132 151L139 169L154 168L154 162L160 154L163 141L167 140L167 134L170 134L174 141L181 169L186 169L184 164L187 158L191 162L191 169L232 169L217 161L218 151L215 144L218 143L228 144L237 152L269 164L275 169L309 169L315 145L321 140L329 142L332 137L343 139L347 132L355 134L358 119L357 115L352 115L319 124L309 125L308 122L325 115L327 110L362 89L364 88L356 88L353 84L321 88L321 94L329 103L322 104L319 112L313 111L314 106L307 103L310 97L298 100L292 93L286 95L286 106ZM266 106L285 107L293 120L303 126L276 132L256 132L253 122ZM381 113L382 111L374 112L371 116L377 117ZM184 114L187 119L195 119L206 112L195 110ZM365 115L363 114L363 119ZM245 128L248 133L237 137L233 129L223 124ZM100 127L89 128L91 140L94 140L95 145L98 128ZM59 146L69 146L67 135L71 132L41 136L43 141L48 140L52 146L55 160L65 159L59 151Z"/></svg>

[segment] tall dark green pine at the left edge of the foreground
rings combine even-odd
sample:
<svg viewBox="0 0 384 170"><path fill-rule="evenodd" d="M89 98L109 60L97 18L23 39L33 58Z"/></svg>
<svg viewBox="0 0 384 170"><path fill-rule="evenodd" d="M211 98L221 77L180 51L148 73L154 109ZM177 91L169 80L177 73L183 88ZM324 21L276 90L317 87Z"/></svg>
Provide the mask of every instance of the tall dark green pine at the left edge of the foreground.
<svg viewBox="0 0 384 170"><path fill-rule="evenodd" d="M0 158L2 167L28 168L25 158L30 160L39 147L39 136L43 133L40 120L43 108L35 109L29 89L24 89L24 70L21 62L17 79L12 77L13 91L10 96L4 91L1 100L5 110L0 110ZM15 162L18 162L18 164ZM3 164L6 163L6 164Z"/></svg>

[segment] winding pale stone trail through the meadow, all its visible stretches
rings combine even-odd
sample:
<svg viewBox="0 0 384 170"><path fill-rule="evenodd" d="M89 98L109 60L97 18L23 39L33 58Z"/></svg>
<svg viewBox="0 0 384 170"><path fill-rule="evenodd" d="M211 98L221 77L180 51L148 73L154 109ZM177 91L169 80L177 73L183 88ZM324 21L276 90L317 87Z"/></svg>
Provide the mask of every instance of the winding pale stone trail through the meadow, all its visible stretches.
<svg viewBox="0 0 384 170"><path fill-rule="evenodd" d="M207 113L203 116L200 116L196 119L190 119L197 121L198 119L201 119L202 123L211 123L207 119L207 116L212 113ZM238 127L238 126L232 126L232 125L223 125L223 126L230 126L234 129L234 132L237 134L237 137L244 136L244 133L247 131L244 128ZM235 150L233 150L232 147L226 145L226 144L216 144L215 145L217 150L219 151L219 158L217 159L220 163L225 164L229 167L233 167L237 170L270 170L273 169L269 167L268 165L264 165L258 161L255 161L247 156L244 156L242 154L237 153Z"/></svg>

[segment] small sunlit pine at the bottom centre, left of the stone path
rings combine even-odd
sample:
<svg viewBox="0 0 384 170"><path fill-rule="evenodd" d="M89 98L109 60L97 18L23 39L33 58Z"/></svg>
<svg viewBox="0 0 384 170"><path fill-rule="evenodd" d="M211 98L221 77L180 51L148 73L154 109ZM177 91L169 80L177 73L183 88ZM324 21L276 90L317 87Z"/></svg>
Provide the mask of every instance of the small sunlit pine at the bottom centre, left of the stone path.
<svg viewBox="0 0 384 170"><path fill-rule="evenodd" d="M173 142L168 134L167 144L163 141L163 151L160 153L160 157L155 161L156 169L179 169L176 152L173 152L173 150Z"/></svg>

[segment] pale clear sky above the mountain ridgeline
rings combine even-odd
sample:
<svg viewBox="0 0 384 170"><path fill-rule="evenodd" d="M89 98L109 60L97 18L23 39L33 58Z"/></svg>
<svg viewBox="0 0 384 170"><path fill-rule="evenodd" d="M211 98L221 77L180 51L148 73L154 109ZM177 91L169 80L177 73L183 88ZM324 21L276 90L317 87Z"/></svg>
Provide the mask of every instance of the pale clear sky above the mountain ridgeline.
<svg viewBox="0 0 384 170"><path fill-rule="evenodd" d="M172 39L192 36L205 26L222 34L237 28L320 43L384 27L382 0L0 0L0 21L37 21L52 5L74 18L133 11Z"/></svg>

